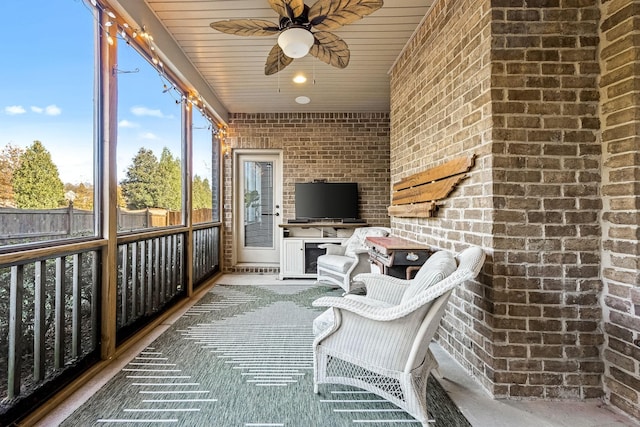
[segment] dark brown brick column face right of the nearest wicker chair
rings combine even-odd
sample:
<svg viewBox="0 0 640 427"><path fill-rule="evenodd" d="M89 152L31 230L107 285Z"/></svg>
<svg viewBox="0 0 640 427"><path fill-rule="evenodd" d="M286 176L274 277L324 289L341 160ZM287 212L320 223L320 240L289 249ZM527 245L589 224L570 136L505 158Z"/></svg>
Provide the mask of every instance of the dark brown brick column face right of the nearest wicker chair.
<svg viewBox="0 0 640 427"><path fill-rule="evenodd" d="M492 4L494 393L598 397L598 2Z"/></svg>

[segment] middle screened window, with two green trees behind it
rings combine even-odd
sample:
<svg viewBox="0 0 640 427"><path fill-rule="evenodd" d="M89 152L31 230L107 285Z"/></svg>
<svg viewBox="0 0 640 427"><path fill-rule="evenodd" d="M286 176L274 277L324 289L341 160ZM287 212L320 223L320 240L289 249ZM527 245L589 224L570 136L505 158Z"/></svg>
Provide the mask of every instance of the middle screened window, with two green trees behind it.
<svg viewBox="0 0 640 427"><path fill-rule="evenodd" d="M182 99L135 50L118 43L118 228L183 224Z"/></svg>

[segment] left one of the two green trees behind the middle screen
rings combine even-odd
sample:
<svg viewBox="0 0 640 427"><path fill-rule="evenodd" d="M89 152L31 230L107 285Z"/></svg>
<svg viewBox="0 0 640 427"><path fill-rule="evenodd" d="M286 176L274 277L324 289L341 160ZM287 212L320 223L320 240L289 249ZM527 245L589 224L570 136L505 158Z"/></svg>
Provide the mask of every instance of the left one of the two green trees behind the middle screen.
<svg viewBox="0 0 640 427"><path fill-rule="evenodd" d="M120 183L129 209L156 207L160 186L158 159L153 151L144 147L127 168L127 176Z"/></svg>

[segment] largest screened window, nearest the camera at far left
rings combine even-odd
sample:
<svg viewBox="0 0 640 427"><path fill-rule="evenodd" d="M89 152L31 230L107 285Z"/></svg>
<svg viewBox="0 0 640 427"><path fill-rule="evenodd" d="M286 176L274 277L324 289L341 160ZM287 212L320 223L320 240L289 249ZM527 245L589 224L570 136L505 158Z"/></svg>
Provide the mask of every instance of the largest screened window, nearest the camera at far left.
<svg viewBox="0 0 640 427"><path fill-rule="evenodd" d="M0 2L0 247L96 234L94 25L78 2Z"/></svg>

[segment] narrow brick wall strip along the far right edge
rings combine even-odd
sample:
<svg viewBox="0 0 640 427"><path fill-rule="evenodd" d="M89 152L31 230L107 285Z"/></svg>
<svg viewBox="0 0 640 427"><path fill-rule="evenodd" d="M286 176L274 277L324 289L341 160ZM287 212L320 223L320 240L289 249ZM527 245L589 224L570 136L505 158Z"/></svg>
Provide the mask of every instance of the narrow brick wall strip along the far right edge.
<svg viewBox="0 0 640 427"><path fill-rule="evenodd" d="M602 3L604 385L640 419L640 1Z"/></svg>

